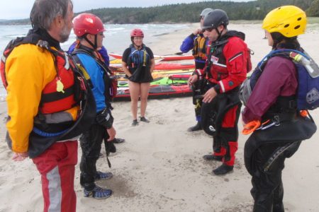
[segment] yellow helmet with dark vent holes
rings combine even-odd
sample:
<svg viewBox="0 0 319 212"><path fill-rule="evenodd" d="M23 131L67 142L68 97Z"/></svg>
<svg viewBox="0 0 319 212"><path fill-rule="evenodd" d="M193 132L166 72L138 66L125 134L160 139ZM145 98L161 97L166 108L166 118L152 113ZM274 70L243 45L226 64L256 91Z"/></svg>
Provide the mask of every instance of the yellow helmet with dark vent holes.
<svg viewBox="0 0 319 212"><path fill-rule="evenodd" d="M262 28L269 33L281 33L285 37L294 37L305 33L306 13L297 6L280 6L270 11L264 18Z"/></svg>

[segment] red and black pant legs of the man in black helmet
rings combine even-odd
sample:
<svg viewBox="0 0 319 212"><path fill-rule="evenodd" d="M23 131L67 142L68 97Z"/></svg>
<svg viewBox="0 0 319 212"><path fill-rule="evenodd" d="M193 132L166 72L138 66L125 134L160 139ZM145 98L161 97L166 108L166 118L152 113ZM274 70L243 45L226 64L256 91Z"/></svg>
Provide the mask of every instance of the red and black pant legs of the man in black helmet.
<svg viewBox="0 0 319 212"><path fill-rule="evenodd" d="M213 155L223 156L225 165L234 165L235 153L238 148L238 119L240 106L236 105L226 112L220 134L213 137Z"/></svg>

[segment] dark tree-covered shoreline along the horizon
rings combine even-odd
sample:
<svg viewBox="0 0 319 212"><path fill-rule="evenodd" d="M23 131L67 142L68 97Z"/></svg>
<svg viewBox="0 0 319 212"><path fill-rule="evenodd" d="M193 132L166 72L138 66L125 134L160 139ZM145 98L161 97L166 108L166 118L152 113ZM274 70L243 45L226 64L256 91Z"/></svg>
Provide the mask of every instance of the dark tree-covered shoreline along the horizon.
<svg viewBox="0 0 319 212"><path fill-rule="evenodd" d="M295 5L306 11L307 16L319 17L319 0L202 1L151 7L99 8L84 12L94 13L103 23L195 23L203 8L223 9L230 20L262 20L269 11L282 5ZM28 18L0 20L0 24L8 25L29 23Z"/></svg>

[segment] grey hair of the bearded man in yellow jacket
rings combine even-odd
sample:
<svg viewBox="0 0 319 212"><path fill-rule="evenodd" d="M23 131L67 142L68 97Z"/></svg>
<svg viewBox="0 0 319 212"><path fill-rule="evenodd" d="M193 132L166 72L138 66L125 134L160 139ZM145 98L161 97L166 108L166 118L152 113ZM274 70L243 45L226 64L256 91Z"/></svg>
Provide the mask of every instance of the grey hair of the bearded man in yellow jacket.
<svg viewBox="0 0 319 212"><path fill-rule="evenodd" d="M73 6L71 0L35 0L30 13L32 27L50 30L57 16L67 16L69 3Z"/></svg>

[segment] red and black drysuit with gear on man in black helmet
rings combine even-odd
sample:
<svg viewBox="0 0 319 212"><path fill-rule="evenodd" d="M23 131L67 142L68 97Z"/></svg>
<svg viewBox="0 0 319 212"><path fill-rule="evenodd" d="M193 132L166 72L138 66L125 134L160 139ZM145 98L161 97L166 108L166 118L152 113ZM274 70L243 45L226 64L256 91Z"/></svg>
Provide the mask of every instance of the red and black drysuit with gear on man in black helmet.
<svg viewBox="0 0 319 212"><path fill-rule="evenodd" d="M216 98L202 107L202 126L213 135L213 155L223 158L225 165L235 163L241 102L238 97L240 84L247 74L249 50L245 34L228 31L216 42L208 45L208 59L204 77L208 88L216 90ZM249 69L249 68L248 68Z"/></svg>

